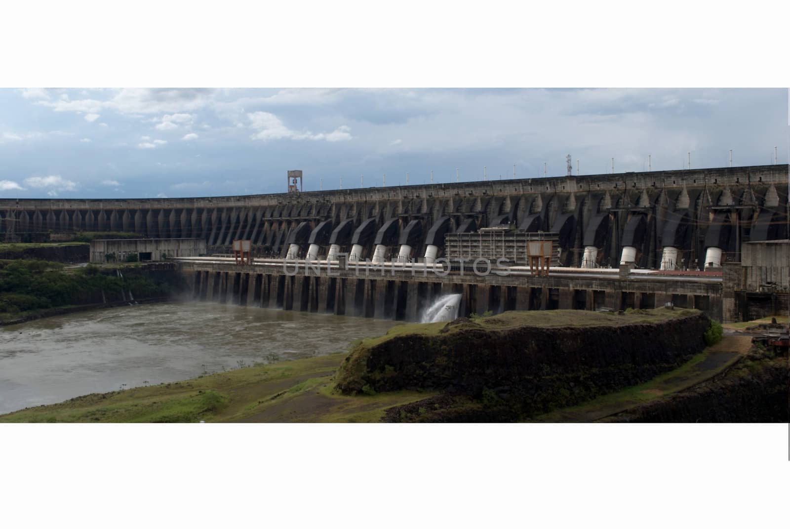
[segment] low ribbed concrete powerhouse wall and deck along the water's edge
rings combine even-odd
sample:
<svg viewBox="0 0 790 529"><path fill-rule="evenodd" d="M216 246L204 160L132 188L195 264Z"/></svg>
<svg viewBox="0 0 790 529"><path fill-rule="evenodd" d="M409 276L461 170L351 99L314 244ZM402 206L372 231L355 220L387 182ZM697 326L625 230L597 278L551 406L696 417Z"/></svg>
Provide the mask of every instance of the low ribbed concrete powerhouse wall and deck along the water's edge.
<svg viewBox="0 0 790 529"><path fill-rule="evenodd" d="M175 259L197 300L346 316L419 321L439 296L461 294L460 316L506 310L654 308L672 303L720 317L721 275L650 270L553 268L548 277L523 266L452 272L423 263L306 262L269 259Z"/></svg>

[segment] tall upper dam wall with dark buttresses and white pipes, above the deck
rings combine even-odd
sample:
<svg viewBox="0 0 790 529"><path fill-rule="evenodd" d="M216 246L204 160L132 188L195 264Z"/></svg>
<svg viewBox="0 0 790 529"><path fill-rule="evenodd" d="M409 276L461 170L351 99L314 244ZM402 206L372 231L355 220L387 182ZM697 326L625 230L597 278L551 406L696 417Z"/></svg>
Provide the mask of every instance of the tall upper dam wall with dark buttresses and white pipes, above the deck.
<svg viewBox="0 0 790 529"><path fill-rule="evenodd" d="M250 239L258 255L280 258L325 258L334 247L430 261L446 233L514 225L559 233L552 264L702 269L739 260L743 242L790 235L787 183L786 165L761 165L211 198L3 198L0 237L136 232L215 248Z"/></svg>

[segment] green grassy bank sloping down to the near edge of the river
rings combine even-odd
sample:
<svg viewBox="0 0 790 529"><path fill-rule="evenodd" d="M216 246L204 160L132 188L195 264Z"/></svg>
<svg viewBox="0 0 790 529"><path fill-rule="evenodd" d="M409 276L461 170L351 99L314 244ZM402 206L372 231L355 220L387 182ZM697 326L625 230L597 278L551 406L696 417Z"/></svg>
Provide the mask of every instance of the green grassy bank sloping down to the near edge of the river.
<svg viewBox="0 0 790 529"><path fill-rule="evenodd" d="M386 408L434 395L332 391L345 353L255 365L125 391L92 394L0 415L0 422L374 422Z"/></svg>

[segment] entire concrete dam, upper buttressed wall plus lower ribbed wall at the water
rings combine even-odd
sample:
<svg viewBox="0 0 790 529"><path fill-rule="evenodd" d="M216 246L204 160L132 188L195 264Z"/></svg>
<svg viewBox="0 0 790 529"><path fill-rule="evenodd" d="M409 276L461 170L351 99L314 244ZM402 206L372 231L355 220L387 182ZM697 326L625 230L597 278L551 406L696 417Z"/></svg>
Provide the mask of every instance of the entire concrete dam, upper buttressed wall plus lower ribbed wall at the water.
<svg viewBox="0 0 790 529"><path fill-rule="evenodd" d="M671 300L720 319L722 268L739 263L743 244L787 239L787 208L788 167L760 165L211 198L2 199L0 226L5 240L77 231L199 238L213 254L251 240L264 262L178 259L203 299L411 320L453 293L461 316ZM400 269L382 280L326 263L324 277L288 276L280 262L346 254L425 267L446 256L447 235L495 227L554 233L551 265L566 272L480 278Z"/></svg>

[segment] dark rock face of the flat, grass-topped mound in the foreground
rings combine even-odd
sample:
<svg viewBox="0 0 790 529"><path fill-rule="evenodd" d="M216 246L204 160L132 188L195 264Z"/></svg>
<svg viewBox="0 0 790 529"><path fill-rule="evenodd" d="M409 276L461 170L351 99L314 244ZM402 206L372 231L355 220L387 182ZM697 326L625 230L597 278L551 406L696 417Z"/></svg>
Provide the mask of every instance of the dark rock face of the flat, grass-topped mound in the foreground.
<svg viewBox="0 0 790 529"><path fill-rule="evenodd" d="M340 367L337 388L346 394L431 389L472 396L513 418L544 413L678 367L705 347L709 319L700 313L620 327L501 331L448 323L453 326L438 336L406 334L358 346Z"/></svg>

